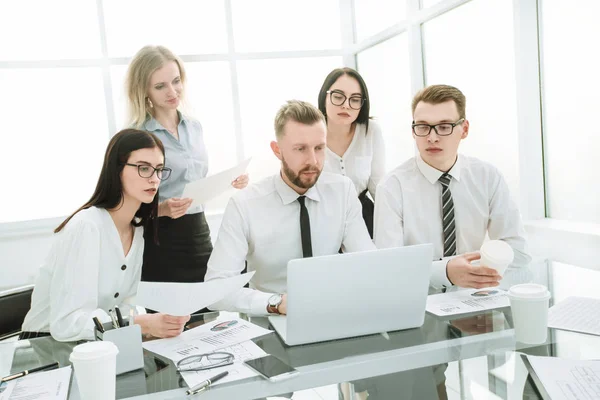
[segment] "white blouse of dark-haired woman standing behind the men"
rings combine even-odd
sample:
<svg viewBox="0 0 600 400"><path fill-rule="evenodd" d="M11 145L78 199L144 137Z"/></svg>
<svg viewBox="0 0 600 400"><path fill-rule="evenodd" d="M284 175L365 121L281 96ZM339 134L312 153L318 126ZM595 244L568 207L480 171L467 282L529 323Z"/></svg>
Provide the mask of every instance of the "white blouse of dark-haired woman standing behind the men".
<svg viewBox="0 0 600 400"><path fill-rule="evenodd" d="M323 171L347 176L358 194L368 188L375 198L377 184L385 175L385 145L377 122L369 120L368 131L365 124L356 124L352 142L342 157L327 148Z"/></svg>

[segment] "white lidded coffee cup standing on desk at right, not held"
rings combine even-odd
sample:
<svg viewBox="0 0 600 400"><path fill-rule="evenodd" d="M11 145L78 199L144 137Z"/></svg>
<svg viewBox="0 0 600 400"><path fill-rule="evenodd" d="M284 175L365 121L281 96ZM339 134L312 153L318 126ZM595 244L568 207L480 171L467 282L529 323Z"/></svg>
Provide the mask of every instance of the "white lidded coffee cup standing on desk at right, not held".
<svg viewBox="0 0 600 400"><path fill-rule="evenodd" d="M550 292L544 285L523 283L508 289L517 342L544 343L548 337Z"/></svg>

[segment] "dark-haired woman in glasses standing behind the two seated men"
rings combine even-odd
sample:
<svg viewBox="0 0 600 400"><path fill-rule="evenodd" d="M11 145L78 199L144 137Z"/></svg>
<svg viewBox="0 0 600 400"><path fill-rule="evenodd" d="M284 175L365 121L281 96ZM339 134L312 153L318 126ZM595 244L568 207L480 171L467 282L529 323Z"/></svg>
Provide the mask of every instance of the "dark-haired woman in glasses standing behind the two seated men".
<svg viewBox="0 0 600 400"><path fill-rule="evenodd" d="M375 199L377 184L385 175L385 146L379 125L369 120L367 85L352 68L334 69L321 86L318 102L327 119L324 170L354 182L372 238L374 206L367 193Z"/></svg>

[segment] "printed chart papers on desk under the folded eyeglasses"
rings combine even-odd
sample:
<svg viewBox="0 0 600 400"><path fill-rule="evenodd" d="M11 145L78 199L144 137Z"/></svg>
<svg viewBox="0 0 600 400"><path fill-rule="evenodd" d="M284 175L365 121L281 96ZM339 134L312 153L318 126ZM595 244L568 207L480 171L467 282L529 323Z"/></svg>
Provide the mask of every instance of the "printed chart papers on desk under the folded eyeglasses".
<svg viewBox="0 0 600 400"><path fill-rule="evenodd" d="M256 358L266 353L250 339L273 333L248 321L239 318L212 321L197 328L183 332L181 335L145 342L144 348L167 357L177 363L181 359L194 355L225 351L234 355L234 364L212 368L204 371L183 372L181 375L189 387L215 376L219 372L228 371L229 375L216 384L232 382L257 375L247 368L243 361Z"/></svg>

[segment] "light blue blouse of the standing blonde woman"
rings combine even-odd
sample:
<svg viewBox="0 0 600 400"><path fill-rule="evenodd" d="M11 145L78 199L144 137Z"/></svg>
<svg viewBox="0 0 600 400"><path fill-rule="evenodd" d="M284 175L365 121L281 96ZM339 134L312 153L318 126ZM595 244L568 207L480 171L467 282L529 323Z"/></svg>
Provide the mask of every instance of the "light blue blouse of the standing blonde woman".
<svg viewBox="0 0 600 400"><path fill-rule="evenodd" d="M165 166L171 168L171 176L161 181L159 201L172 197L181 197L185 185L206 177L208 173L208 154L204 145L204 136L200 122L179 112L177 127L179 140L169 133L156 119L144 123L144 129L154 133L165 146ZM196 214L204 210L202 205L192 206L186 214Z"/></svg>

